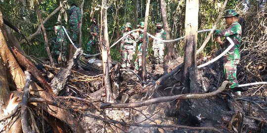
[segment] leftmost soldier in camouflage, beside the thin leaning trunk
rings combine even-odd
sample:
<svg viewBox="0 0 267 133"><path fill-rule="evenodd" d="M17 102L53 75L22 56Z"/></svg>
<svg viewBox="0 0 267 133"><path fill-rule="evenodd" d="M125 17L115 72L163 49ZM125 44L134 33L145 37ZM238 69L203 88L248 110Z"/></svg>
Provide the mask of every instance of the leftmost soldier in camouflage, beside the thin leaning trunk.
<svg viewBox="0 0 267 133"><path fill-rule="evenodd" d="M52 57L58 59L60 53L62 54L62 61L67 62L67 35L65 34L63 28L59 22L56 22L55 26L52 28L47 28L46 31L55 31L56 38L55 43L52 46Z"/></svg>

